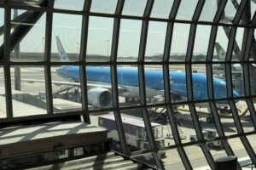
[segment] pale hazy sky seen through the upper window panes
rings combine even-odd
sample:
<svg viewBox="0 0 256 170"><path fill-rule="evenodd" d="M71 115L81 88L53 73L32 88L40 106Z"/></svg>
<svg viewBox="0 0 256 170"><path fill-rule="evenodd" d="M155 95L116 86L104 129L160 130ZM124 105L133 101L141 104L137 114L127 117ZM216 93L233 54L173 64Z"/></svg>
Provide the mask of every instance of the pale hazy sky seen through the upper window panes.
<svg viewBox="0 0 256 170"><path fill-rule="evenodd" d="M240 2L239 0L238 2ZM64 3L63 3L64 2ZM83 0L56 0L55 8L81 10L83 8ZM178 20L190 20L194 13L197 0L182 0L180 8L177 12ZM117 0L94 0L92 1L91 11L113 14ZM143 15L146 0L126 0L123 14ZM152 9L151 17L168 18L173 0L155 1ZM136 5L135 5L136 4ZM252 5L253 6L253 5ZM207 0L202 9L200 20L211 21L216 13L217 6L215 1ZM252 7L255 10L255 5ZM18 13L24 11L19 10ZM225 14L234 16L236 10L230 1L225 8ZM12 10L13 15L13 10ZM44 14L32 30L20 42L21 52L44 52L45 38L45 20ZM0 8L0 26L3 26L3 8ZM63 43L67 53L78 53L80 49L82 16L77 14L54 14L52 28L52 47L51 52L56 53L55 37L58 36ZM166 22L150 21L148 26L148 41L146 45L146 55L163 54L165 38L166 38ZM175 24L171 54L185 54L187 50L189 38L188 24ZM139 41L142 29L141 20L121 20L119 33L119 49L120 57L137 57L139 49ZM211 26L198 26L195 35L195 54L206 54L207 43ZM236 40L241 44L243 29L238 29ZM90 16L87 54L109 55L112 46L113 37L113 18ZM228 39L224 34L222 27L218 28L216 41L220 42L224 48L227 48ZM3 36L0 37L0 44L3 43Z"/></svg>

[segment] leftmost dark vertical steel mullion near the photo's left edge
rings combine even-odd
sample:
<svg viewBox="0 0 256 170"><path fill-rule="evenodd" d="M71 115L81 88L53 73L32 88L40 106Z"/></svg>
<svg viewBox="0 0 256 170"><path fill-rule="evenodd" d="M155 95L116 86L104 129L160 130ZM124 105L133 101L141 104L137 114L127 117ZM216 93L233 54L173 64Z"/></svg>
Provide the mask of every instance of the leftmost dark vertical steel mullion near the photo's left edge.
<svg viewBox="0 0 256 170"><path fill-rule="evenodd" d="M11 86L11 73L10 73L10 20L11 20L11 8L9 7L9 1L7 7L4 9L4 36L3 36L3 70L4 70L4 84L5 84L5 101L6 101L6 116L8 120L12 120L14 117L13 103L12 103L12 86Z"/></svg>

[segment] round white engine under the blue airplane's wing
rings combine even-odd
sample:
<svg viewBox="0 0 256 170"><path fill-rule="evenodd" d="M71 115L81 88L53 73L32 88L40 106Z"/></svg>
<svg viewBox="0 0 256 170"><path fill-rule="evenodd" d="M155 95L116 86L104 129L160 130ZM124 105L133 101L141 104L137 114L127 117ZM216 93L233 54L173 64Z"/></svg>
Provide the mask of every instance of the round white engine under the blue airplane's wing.
<svg viewBox="0 0 256 170"><path fill-rule="evenodd" d="M88 103L95 108L112 107L112 94L106 88L91 88L88 90Z"/></svg>

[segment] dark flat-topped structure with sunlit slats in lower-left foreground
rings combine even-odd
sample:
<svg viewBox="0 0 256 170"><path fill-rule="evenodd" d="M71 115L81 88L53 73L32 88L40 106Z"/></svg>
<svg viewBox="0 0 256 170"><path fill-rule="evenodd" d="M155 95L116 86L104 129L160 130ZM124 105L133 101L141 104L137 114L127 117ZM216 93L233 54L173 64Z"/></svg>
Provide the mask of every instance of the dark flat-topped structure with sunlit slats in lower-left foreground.
<svg viewBox="0 0 256 170"><path fill-rule="evenodd" d="M0 169L148 168L111 150L111 142L107 129L84 122L4 127L0 129Z"/></svg>

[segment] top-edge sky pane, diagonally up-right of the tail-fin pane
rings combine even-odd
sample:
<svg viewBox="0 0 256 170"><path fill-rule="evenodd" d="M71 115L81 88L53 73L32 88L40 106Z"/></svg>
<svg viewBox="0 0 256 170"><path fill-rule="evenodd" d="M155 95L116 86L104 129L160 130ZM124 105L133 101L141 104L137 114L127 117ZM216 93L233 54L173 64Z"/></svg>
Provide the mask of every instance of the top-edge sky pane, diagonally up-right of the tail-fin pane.
<svg viewBox="0 0 256 170"><path fill-rule="evenodd" d="M93 0L91 1L90 12L113 14L118 0Z"/></svg>

